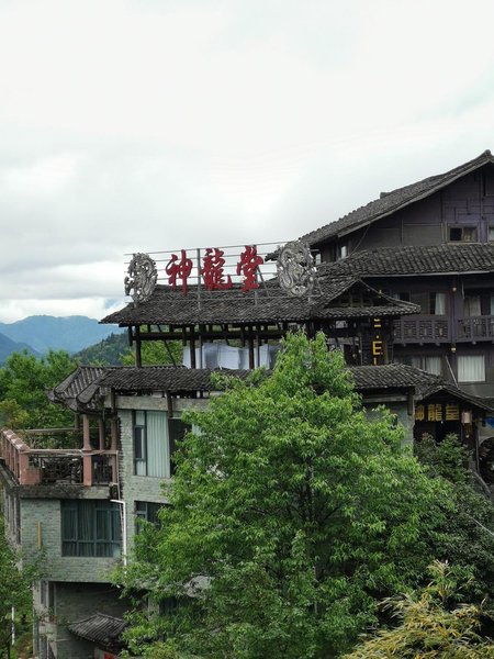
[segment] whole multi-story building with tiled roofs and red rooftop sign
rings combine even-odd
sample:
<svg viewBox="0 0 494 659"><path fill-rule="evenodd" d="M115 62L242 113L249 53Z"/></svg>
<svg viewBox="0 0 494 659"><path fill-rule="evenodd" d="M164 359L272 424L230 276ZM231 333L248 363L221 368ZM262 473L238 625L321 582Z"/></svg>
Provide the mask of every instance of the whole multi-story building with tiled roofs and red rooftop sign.
<svg viewBox="0 0 494 659"><path fill-rule="evenodd" d="M322 254L317 272L303 246L293 245L279 278L263 283L239 266L237 284L217 269L206 279L206 263L214 257L217 266L220 249L206 249L202 260L199 255L195 273L186 250L180 263L172 255L169 286L156 283L149 257L133 259L134 283L127 280L126 288L134 288L134 302L103 322L127 328L136 366L79 367L50 392L80 427L58 449L40 448L38 432L1 433L8 529L23 560L41 570L34 592L37 657L117 656L128 603L110 573L126 560L139 520L154 522L167 503L162 483L173 474L176 443L186 431L182 412L207 405L216 394L211 373L217 368L239 377L260 365L271 368L280 339L294 328L310 336L322 331L329 348L341 348L364 404L389 405L408 440L414 432L438 438L457 432L479 467L479 428L494 415L489 401L476 396L489 394L494 373L494 230L487 219L493 163L484 154L313 232L306 239ZM473 237L484 243L472 244ZM381 243L389 246L374 250ZM258 263L255 248L245 254L244 266ZM492 254L494 263L494 244ZM198 283L187 286L187 272ZM180 342L187 367L142 366L144 342ZM402 364L392 364L393 357Z"/></svg>

